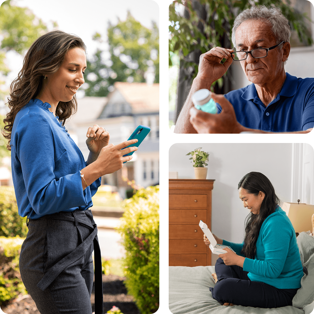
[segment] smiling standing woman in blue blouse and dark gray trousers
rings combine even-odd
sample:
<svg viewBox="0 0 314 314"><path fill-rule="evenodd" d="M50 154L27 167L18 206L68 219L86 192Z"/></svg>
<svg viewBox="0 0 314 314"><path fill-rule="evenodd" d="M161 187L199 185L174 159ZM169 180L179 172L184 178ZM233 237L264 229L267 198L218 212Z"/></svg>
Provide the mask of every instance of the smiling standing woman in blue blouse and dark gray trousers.
<svg viewBox="0 0 314 314"><path fill-rule="evenodd" d="M51 31L26 53L11 84L4 135L11 150L19 215L29 228L19 268L41 314L103 313L102 268L97 225L89 209L101 176L122 168L137 150L133 139L109 144L109 132L89 127L88 160L64 122L77 110L75 94L84 84L86 46L76 35ZM27 222L29 219L29 222Z"/></svg>

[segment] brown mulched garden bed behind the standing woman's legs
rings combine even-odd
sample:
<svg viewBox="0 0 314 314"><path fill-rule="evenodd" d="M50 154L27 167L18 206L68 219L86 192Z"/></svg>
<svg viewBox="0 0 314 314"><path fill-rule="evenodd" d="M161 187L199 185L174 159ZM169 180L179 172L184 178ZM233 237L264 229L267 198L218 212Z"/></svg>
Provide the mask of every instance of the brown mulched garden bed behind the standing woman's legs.
<svg viewBox="0 0 314 314"><path fill-rule="evenodd" d="M109 311L113 306L119 307L124 314L140 314L134 303L133 296L127 295L127 289L123 284L126 277L117 275L102 275L104 290L104 313ZM94 288L90 298L92 310L94 311L95 294ZM23 295L18 299L12 300L6 307L1 307L6 314L40 314L35 302L30 295Z"/></svg>

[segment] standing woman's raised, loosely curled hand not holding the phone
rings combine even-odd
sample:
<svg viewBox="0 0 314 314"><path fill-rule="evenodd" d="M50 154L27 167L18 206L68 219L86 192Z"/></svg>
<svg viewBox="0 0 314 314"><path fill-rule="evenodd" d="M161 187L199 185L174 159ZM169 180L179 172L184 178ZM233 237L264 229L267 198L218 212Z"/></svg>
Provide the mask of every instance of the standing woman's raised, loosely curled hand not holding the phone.
<svg viewBox="0 0 314 314"><path fill-rule="evenodd" d="M110 135L103 127L95 124L93 127L88 128L86 137L86 145L89 151L93 154L99 154L101 149L109 144Z"/></svg>

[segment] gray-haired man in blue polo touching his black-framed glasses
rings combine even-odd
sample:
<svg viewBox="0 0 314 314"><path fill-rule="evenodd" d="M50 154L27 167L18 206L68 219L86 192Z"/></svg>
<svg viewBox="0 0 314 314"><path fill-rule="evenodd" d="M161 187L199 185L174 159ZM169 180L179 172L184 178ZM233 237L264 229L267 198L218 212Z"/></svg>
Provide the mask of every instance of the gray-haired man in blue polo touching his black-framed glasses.
<svg viewBox="0 0 314 314"><path fill-rule="evenodd" d="M310 133L314 127L314 78L297 78L284 71L290 34L288 20L279 8L258 5L241 12L232 28L235 48L214 47L201 55L174 132ZM210 89L233 61L241 63L253 84L225 95L213 93L218 114L194 108L194 92Z"/></svg>

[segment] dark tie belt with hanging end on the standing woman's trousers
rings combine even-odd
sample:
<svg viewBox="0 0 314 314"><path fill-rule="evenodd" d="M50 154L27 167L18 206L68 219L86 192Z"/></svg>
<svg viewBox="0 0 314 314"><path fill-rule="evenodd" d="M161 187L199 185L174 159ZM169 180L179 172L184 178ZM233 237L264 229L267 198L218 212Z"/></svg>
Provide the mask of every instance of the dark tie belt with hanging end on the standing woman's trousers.
<svg viewBox="0 0 314 314"><path fill-rule="evenodd" d="M75 217L75 213L73 212L73 216L62 217L60 220L73 221L75 225L79 222L79 217ZM44 216L47 217L47 216ZM86 225L83 222L84 225ZM67 268L72 263L76 262L80 259L86 251L90 248L91 242L94 243L94 257L95 257L95 314L103 314L104 306L103 306L103 288L102 288L102 266L101 266L101 254L100 254L100 246L97 237L97 225L93 224L94 230L93 232L71 253L67 256L63 257L59 262L51 266L49 270L46 272L41 281L37 284L37 287L42 291L47 289L50 284L58 277L62 271Z"/></svg>

